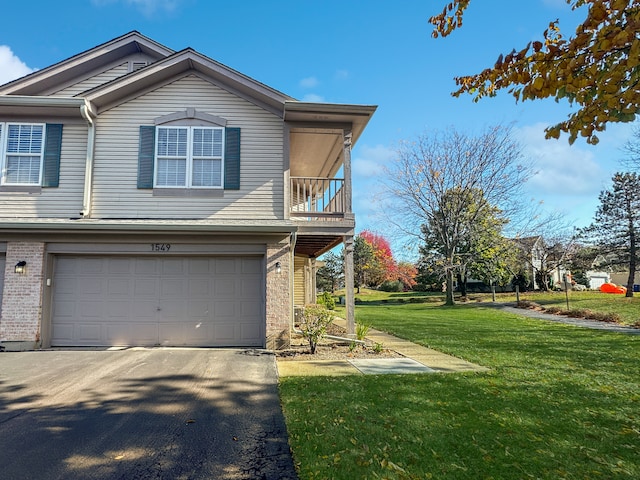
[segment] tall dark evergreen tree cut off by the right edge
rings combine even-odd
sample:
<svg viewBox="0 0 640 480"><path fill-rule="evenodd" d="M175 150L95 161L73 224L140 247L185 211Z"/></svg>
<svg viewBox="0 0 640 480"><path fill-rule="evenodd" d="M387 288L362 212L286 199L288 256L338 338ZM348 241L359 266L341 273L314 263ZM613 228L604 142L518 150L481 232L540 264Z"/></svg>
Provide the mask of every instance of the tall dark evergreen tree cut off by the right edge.
<svg viewBox="0 0 640 480"><path fill-rule="evenodd" d="M633 281L638 267L640 234L640 176L616 173L611 190L600 193L595 221L582 233L608 258L629 270L627 297L633 296Z"/></svg>

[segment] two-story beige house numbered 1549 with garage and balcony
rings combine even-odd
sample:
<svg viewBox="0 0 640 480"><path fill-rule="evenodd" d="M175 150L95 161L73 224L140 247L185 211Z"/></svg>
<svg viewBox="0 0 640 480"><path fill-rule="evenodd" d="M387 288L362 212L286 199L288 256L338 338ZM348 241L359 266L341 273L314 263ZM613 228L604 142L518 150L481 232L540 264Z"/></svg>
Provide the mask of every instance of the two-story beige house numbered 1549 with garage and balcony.
<svg viewBox="0 0 640 480"><path fill-rule="evenodd" d="M138 32L0 86L0 341L285 347L341 243L352 327L351 146L374 111Z"/></svg>

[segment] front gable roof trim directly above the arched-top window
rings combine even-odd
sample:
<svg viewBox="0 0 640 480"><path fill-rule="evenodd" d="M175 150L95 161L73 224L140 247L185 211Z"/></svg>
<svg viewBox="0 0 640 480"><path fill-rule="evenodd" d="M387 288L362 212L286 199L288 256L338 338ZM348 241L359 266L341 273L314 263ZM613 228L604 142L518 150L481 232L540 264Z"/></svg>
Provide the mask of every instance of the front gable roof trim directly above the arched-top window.
<svg viewBox="0 0 640 480"><path fill-rule="evenodd" d="M211 83L245 98L279 116L293 98L268 87L191 48L176 52L140 70L83 92L98 112L112 108L162 83L196 73Z"/></svg>

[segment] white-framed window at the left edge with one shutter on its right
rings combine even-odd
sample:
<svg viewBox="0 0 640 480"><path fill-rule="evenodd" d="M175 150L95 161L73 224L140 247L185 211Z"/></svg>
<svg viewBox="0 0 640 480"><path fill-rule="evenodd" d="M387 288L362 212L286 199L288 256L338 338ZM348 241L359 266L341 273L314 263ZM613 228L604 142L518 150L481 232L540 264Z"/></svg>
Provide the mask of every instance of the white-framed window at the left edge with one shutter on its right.
<svg viewBox="0 0 640 480"><path fill-rule="evenodd" d="M2 185L41 185L45 124L0 123Z"/></svg>

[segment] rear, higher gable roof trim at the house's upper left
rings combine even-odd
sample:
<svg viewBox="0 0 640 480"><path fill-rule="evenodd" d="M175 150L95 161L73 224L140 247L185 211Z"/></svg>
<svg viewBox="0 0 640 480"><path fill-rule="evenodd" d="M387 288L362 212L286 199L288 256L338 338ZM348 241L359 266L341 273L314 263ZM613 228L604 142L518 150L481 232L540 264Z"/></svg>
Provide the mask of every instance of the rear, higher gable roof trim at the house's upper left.
<svg viewBox="0 0 640 480"><path fill-rule="evenodd" d="M57 85L81 76L85 72L106 67L123 57L144 53L160 60L174 53L139 32L132 31L102 45L74 55L50 67L43 68L0 86L0 95L42 95Z"/></svg>

